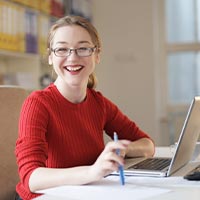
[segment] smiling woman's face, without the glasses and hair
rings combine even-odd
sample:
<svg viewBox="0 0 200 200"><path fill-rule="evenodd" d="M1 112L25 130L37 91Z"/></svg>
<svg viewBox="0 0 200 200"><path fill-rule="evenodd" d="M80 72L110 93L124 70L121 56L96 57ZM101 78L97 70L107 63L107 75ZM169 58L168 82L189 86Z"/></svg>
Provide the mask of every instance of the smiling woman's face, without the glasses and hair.
<svg viewBox="0 0 200 200"><path fill-rule="evenodd" d="M91 47L94 47L94 44L89 33L78 25L58 28L52 41L52 49ZM95 64L98 62L97 51L87 57L80 57L75 51L65 57L58 57L54 52L51 52L49 56L49 64L53 65L58 78L70 86L87 86L89 75L94 71Z"/></svg>

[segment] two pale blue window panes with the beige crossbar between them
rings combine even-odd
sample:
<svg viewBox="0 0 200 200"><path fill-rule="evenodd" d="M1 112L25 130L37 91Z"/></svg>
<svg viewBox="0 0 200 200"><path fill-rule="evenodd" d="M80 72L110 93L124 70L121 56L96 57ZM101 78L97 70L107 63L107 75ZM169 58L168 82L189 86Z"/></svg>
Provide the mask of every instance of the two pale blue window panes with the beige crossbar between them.
<svg viewBox="0 0 200 200"><path fill-rule="evenodd" d="M200 0L165 0L170 105L200 95Z"/></svg>

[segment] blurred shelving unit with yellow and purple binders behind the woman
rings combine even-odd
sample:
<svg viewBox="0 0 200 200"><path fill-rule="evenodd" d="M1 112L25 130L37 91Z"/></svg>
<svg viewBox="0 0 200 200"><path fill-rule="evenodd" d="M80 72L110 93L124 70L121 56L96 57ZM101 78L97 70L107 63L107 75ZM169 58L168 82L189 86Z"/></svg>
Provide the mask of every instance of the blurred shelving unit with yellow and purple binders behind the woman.
<svg viewBox="0 0 200 200"><path fill-rule="evenodd" d="M51 69L43 57L52 21L66 14L66 0L0 0L0 85L41 88Z"/></svg>

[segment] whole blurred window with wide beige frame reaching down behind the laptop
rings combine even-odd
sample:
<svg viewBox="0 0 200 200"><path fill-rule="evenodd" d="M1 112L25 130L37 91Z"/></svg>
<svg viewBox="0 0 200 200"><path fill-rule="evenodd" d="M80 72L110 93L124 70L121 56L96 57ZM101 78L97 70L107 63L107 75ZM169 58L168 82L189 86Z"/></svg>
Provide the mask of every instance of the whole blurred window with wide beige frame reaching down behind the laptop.
<svg viewBox="0 0 200 200"><path fill-rule="evenodd" d="M173 144L192 99L200 95L200 0L155 0L154 5L159 33L159 130Z"/></svg>

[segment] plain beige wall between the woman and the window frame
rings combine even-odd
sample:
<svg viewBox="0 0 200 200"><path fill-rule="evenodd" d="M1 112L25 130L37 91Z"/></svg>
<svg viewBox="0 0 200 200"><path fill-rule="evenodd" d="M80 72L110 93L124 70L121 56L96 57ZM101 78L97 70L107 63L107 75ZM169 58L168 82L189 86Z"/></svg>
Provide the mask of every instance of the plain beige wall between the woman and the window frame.
<svg viewBox="0 0 200 200"><path fill-rule="evenodd" d="M103 43L97 89L159 144L153 0L93 0L93 21Z"/></svg>

